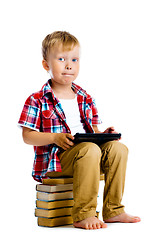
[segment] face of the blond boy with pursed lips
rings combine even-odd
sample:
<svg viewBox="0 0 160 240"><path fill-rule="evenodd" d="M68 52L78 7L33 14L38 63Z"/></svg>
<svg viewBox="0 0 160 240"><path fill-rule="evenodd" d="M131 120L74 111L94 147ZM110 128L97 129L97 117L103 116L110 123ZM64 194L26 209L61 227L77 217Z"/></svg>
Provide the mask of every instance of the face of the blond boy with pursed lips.
<svg viewBox="0 0 160 240"><path fill-rule="evenodd" d="M79 46L70 51L62 51L58 46L52 49L48 57L51 78L58 84L71 84L79 73Z"/></svg>

